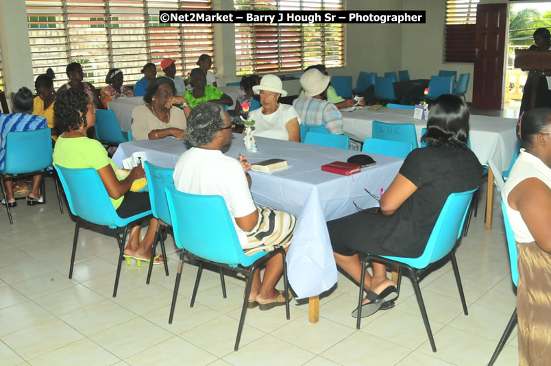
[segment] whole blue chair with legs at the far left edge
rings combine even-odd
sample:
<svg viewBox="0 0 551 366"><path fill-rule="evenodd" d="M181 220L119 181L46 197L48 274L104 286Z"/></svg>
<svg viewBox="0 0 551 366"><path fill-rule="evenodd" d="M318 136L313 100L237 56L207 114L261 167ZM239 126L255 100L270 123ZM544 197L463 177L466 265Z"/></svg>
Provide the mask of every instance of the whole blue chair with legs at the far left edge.
<svg viewBox="0 0 551 366"><path fill-rule="evenodd" d="M0 171L2 174L0 177L0 188L4 202L8 203L8 197L6 197L4 190L5 181L15 181L36 175L37 173L42 173L40 194L46 200L45 178L49 175L46 169L51 167L52 160L51 132L49 127L34 131L8 132L5 139L5 163L4 169ZM12 176L6 177L6 174L11 174ZM60 211L63 213L58 180L56 177L53 178L56 181ZM13 224L10 205L6 204L5 209L8 211L10 224Z"/></svg>

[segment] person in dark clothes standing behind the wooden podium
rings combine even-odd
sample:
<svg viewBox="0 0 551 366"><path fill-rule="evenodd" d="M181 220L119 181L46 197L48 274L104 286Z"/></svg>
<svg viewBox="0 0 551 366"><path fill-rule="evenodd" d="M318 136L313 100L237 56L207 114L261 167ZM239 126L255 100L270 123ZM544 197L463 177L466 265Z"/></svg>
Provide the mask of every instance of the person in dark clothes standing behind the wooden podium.
<svg viewBox="0 0 551 366"><path fill-rule="evenodd" d="M529 49L551 51L551 34L549 29L536 29L534 32L534 43L535 45L531 45ZM519 115L531 109L532 90L534 88L536 90L534 108L551 108L551 71L530 71L524 85Z"/></svg>

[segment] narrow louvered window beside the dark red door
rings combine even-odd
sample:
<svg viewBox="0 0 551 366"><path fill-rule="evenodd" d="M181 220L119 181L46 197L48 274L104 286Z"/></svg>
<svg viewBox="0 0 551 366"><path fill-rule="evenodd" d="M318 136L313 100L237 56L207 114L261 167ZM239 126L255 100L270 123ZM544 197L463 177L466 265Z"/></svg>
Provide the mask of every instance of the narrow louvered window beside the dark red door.
<svg viewBox="0 0 551 366"><path fill-rule="evenodd" d="M445 14L445 62L474 62L476 6L480 0L448 0Z"/></svg>

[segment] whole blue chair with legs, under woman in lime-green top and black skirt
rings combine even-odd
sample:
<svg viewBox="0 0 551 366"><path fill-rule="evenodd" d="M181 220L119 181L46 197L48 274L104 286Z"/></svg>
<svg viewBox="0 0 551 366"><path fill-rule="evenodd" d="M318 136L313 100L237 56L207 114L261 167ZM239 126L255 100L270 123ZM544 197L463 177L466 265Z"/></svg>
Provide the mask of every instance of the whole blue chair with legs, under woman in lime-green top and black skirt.
<svg viewBox="0 0 551 366"><path fill-rule="evenodd" d="M115 236L119 244L119 262L117 263L117 276L115 277L113 288L113 297L116 297L117 288L119 287L119 277L121 276L124 245L126 236L130 231L130 224L151 215L151 210L127 218L119 217L109 198L106 187L101 182L101 178L99 178L99 174L95 169L69 169L56 165L56 170L65 191L69 208L76 217L69 278L73 278L73 265L77 251L80 221L84 220L96 225L108 226L110 229L116 230ZM86 187L86 189L83 190L82 187ZM119 235L121 229L122 234ZM164 258L166 260L166 257Z"/></svg>

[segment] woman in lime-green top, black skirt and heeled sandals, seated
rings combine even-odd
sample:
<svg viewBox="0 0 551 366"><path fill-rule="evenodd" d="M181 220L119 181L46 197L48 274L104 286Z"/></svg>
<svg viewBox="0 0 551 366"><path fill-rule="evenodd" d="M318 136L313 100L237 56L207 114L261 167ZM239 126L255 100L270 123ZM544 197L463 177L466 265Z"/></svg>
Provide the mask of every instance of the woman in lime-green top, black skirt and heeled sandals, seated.
<svg viewBox="0 0 551 366"><path fill-rule="evenodd" d="M135 167L127 178L119 180L115 175L117 167L107 156L106 149L99 141L86 136L86 130L95 125L95 113L95 107L83 91L71 88L58 93L53 114L56 117L56 127L63 133L58 137L53 150L53 164L69 169L96 169L120 217L132 217L151 210L149 193L130 192L132 182L145 176L143 167ZM86 187L82 187L82 194L86 195ZM149 228L143 241L140 241L140 225L134 225L130 229L128 245L124 249L124 256L129 264L130 258L134 258L138 264L140 260L147 263L150 261L157 220L153 217L145 219L149 219ZM162 256L156 255L154 264L161 263Z"/></svg>

